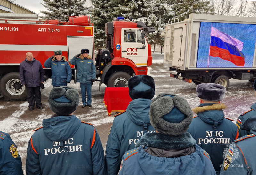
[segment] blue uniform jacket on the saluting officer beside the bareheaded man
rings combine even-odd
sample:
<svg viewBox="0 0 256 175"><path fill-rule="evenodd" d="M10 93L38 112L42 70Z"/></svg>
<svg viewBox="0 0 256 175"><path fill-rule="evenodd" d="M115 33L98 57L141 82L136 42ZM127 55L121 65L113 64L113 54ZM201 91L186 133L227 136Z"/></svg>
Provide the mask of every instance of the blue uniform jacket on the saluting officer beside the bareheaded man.
<svg viewBox="0 0 256 175"><path fill-rule="evenodd" d="M72 78L71 67L65 57L62 56L62 60L58 61L56 58L52 61L48 58L44 62L44 67L52 68L52 85L53 86L67 86L67 81L70 82Z"/></svg>

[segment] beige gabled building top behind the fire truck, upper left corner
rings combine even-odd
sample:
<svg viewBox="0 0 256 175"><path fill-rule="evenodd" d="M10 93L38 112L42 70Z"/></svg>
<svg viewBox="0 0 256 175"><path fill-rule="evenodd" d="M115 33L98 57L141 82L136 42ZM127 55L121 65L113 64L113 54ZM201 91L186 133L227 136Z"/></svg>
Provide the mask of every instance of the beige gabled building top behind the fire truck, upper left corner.
<svg viewBox="0 0 256 175"><path fill-rule="evenodd" d="M10 9L10 2L7 0L0 0L0 5L9 8ZM26 8L23 8L19 5L11 3L11 10L14 11L14 13L21 13L21 14L36 14L32 11L27 10ZM10 13L8 11L0 10L0 13Z"/></svg>

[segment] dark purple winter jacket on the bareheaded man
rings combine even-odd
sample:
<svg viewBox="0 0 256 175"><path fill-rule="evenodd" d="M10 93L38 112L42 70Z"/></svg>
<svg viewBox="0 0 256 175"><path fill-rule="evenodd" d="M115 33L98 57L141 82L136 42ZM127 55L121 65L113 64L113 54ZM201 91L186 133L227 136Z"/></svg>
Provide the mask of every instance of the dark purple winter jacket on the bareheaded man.
<svg viewBox="0 0 256 175"><path fill-rule="evenodd" d="M40 61L33 58L32 61L25 61L20 63L20 81L21 84L28 87L37 87L44 82L44 69Z"/></svg>

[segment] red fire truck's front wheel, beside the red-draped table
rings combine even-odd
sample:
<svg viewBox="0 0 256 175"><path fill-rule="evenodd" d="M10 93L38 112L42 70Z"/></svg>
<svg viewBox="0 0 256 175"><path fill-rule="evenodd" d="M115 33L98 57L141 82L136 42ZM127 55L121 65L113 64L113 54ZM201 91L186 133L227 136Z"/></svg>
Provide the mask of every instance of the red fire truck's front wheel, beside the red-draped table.
<svg viewBox="0 0 256 175"><path fill-rule="evenodd" d="M126 72L115 72L108 79L108 87L128 87L128 80L131 78Z"/></svg>

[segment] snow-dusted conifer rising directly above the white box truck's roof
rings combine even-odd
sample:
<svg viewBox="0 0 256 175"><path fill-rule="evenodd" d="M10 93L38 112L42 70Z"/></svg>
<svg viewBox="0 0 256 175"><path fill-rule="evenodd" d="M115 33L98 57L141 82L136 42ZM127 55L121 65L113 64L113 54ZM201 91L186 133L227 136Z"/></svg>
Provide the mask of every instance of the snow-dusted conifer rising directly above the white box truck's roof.
<svg viewBox="0 0 256 175"><path fill-rule="evenodd" d="M180 21L188 19L190 13L213 14L210 0L177 0L175 8L176 17Z"/></svg>

